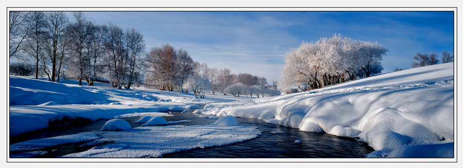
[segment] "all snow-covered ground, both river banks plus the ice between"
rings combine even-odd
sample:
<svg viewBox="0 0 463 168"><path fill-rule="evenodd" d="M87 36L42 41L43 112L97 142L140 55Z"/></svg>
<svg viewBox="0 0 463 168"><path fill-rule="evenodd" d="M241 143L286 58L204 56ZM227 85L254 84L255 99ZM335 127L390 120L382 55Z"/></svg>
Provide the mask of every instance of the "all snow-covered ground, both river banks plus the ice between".
<svg viewBox="0 0 463 168"><path fill-rule="evenodd" d="M169 115L159 113L162 111L195 109L197 105L205 104L204 109L195 111L202 113L200 117L228 115L221 118L225 123L125 127L121 129L124 131L103 129L25 141L10 145L10 151L78 141L91 141L91 144L113 141L65 157L158 157L165 153L236 143L260 135L255 128L237 125L236 119L231 118L235 116L258 118L304 132L353 137L376 150L367 157L453 158L456 140L453 69L453 63L415 68L274 97L235 98L208 94L202 99L190 93L145 88L118 90L108 83L78 86L75 80L56 83L10 76L10 136L47 128L53 121L128 116L154 118ZM189 121L170 121L168 124L175 122ZM155 143L158 147L145 142ZM16 155L28 157L43 152L25 151Z"/></svg>

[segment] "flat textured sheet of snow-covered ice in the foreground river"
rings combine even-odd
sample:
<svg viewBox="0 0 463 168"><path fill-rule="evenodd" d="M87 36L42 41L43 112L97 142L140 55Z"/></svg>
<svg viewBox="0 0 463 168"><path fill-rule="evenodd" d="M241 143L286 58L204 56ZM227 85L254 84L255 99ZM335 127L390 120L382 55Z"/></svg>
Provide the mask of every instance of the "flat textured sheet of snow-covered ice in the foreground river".
<svg viewBox="0 0 463 168"><path fill-rule="evenodd" d="M256 138L255 127L217 125L169 125L138 127L127 131L105 132L92 143L112 143L63 157L72 158L145 158L195 148L222 146ZM114 142L113 142L114 141Z"/></svg>

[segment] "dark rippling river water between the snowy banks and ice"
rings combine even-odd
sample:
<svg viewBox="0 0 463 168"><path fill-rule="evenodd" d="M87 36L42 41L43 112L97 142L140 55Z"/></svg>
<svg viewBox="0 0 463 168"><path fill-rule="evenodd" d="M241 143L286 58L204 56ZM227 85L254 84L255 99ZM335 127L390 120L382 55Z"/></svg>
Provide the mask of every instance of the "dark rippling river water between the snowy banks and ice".
<svg viewBox="0 0 463 168"><path fill-rule="evenodd" d="M172 112L174 116L163 117L167 121L191 120L192 122L177 123L182 125L197 125L214 123L217 119L200 118L192 113ZM132 128L139 127L141 123L134 123L140 117L121 118L128 121ZM374 150L364 142L354 138L343 138L325 133L306 133L298 129L269 124L263 120L237 118L240 125L257 127L262 135L245 142L193 149L172 154L164 154L163 158L361 158ZM77 134L81 132L98 131L107 120L101 119L88 123L69 124L39 131L26 133L17 137L10 137L10 144L61 135ZM284 132L284 134L271 134L271 132ZM295 143L300 140L301 143ZM80 146L86 142L52 146L40 151L46 154L34 156L39 158L54 158L70 153L83 152L93 146ZM101 144L100 144L101 145ZM10 153L11 154L11 153Z"/></svg>

